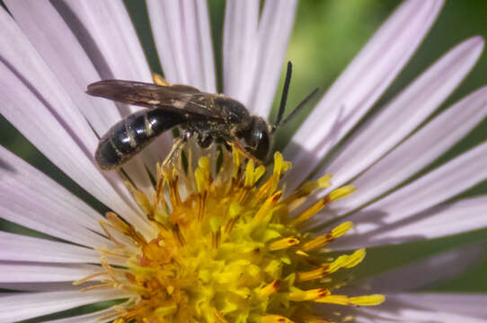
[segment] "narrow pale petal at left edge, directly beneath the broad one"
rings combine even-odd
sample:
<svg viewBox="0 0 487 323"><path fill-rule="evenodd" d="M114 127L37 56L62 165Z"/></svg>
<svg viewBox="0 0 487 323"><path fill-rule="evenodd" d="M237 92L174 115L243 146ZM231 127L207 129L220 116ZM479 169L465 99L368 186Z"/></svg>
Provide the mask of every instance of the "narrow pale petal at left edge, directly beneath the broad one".
<svg viewBox="0 0 487 323"><path fill-rule="evenodd" d="M0 231L0 260L52 263L96 263L100 253L63 242Z"/></svg>

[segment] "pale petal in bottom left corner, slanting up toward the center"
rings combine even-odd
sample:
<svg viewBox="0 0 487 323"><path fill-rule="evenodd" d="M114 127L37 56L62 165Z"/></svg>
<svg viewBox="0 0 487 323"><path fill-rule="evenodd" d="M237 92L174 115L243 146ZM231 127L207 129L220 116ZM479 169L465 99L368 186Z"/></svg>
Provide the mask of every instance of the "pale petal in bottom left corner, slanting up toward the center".
<svg viewBox="0 0 487 323"><path fill-rule="evenodd" d="M127 297L122 291L22 292L0 297L0 323L36 318L97 301Z"/></svg>

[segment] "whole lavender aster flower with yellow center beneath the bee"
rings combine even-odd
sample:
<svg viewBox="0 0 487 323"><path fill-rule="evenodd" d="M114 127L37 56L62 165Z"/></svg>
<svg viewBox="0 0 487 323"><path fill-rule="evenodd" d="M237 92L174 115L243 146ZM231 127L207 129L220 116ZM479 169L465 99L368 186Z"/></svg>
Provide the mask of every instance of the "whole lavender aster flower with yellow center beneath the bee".
<svg viewBox="0 0 487 323"><path fill-rule="evenodd" d="M0 232L0 287L13 291L0 298L1 322L112 300L119 302L54 321L487 319L483 295L412 292L465 269L482 252L475 247L359 281L347 274L364 248L486 224L485 196L451 199L485 179L486 144L407 181L485 117L482 88L415 131L473 67L483 39L452 48L319 166L392 83L442 1L402 4L267 170L238 153L194 145L186 151L187 171L167 170L157 166L171 146L163 135L123 167L123 178L99 170L93 152L97 135L137 108L84 93L100 79L152 82L123 4L5 3L12 16L0 11L0 37L8 44L0 49L2 114L110 212L94 210L0 149L1 216L57 238ZM254 114L270 112L296 5L268 0L260 15L258 1L226 4L224 92ZM167 81L216 92L206 3L147 7Z"/></svg>

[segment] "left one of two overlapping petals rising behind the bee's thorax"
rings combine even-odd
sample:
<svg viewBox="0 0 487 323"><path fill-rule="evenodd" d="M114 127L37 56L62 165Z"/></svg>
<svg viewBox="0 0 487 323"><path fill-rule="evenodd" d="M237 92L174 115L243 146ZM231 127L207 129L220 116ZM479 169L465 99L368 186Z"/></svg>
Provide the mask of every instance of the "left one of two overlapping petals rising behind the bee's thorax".
<svg viewBox="0 0 487 323"><path fill-rule="evenodd" d="M251 82L249 71L257 56L259 0L226 2L223 34L223 90L244 102L244 83Z"/></svg>

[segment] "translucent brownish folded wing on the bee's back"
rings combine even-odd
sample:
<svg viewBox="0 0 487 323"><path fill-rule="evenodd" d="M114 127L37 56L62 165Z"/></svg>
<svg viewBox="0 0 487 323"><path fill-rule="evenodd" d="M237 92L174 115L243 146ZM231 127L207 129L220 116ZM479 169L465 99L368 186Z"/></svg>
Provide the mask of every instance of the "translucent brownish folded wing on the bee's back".
<svg viewBox="0 0 487 323"><path fill-rule="evenodd" d="M187 85L161 86L153 83L104 80L89 84L86 92L146 108L184 111L207 118L218 118L208 107L199 103L200 100L195 100L208 94Z"/></svg>

